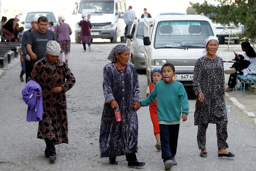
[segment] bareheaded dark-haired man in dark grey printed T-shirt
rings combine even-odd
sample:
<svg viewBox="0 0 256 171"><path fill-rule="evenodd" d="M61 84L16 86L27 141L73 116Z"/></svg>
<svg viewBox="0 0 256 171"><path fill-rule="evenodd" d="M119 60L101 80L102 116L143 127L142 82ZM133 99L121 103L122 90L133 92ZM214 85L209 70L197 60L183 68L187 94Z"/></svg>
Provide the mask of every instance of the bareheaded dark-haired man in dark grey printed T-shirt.
<svg viewBox="0 0 256 171"><path fill-rule="evenodd" d="M47 29L48 19L45 16L41 16L37 20L38 29L33 30L29 33L26 48L27 52L31 58L31 67L33 68L34 64L46 56L46 44L50 40L56 41L56 36L53 31ZM31 70L32 71L32 70ZM26 75L30 75L31 71L27 72Z"/></svg>

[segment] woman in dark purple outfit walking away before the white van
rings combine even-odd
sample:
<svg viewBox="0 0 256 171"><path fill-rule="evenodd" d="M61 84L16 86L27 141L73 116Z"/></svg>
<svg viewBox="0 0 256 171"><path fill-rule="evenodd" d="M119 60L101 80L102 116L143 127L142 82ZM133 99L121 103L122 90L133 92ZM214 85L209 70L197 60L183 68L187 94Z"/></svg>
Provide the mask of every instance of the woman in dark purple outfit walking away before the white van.
<svg viewBox="0 0 256 171"><path fill-rule="evenodd" d="M91 22L90 19L87 18L86 14L82 14L83 20L80 21L79 26L81 26L80 38L83 42L84 52L86 52L85 44L88 43L89 52L91 52Z"/></svg>

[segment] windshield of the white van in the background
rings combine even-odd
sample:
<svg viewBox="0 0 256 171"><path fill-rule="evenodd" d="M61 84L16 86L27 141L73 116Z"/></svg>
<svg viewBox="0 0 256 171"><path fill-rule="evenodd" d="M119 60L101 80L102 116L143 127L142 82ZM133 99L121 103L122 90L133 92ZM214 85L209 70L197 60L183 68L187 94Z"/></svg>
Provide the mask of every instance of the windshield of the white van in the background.
<svg viewBox="0 0 256 171"><path fill-rule="evenodd" d="M113 14L114 1L81 1L78 13L104 13Z"/></svg>

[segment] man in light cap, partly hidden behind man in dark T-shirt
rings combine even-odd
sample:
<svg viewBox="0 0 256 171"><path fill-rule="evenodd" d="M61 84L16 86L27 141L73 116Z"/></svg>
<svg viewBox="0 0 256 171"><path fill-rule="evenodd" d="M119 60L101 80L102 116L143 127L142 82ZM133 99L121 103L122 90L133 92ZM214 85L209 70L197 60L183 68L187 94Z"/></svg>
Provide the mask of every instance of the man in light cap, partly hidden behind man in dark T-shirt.
<svg viewBox="0 0 256 171"><path fill-rule="evenodd" d="M31 66L31 58L27 52L27 49L26 49L26 41L27 41L27 38L28 38L28 35L31 31L33 30L36 30L38 29L38 26L37 26L37 20L38 18L37 17L33 17L31 20L30 20L30 24L31 24L31 29L27 30L24 32L23 34L23 37L22 37L22 40L21 40L21 50L22 50L22 62L25 62L25 69L26 69L26 82L27 82L27 79L33 69L33 67ZM25 58L25 60L24 60ZM20 78L21 79L21 78Z"/></svg>

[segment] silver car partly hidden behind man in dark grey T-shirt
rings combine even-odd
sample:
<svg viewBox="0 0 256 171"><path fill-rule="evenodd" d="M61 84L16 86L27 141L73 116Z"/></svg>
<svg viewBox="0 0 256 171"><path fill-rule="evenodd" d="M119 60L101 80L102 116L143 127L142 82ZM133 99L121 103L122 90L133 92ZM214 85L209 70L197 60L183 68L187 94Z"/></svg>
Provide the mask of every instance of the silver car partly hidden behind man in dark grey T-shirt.
<svg viewBox="0 0 256 171"><path fill-rule="evenodd" d="M33 17L41 17L41 16L45 16L47 17L48 19L48 22L52 21L53 22L53 28L55 28L55 26L57 25L57 21L55 19L55 16L53 14L53 12L50 12L50 11L33 11L33 12L28 12L27 16L26 16L26 19L25 19L25 22L22 21L21 23L24 24L24 30L29 30L31 29L31 24L30 24L30 20L33 18Z"/></svg>

